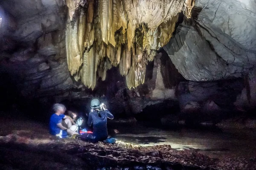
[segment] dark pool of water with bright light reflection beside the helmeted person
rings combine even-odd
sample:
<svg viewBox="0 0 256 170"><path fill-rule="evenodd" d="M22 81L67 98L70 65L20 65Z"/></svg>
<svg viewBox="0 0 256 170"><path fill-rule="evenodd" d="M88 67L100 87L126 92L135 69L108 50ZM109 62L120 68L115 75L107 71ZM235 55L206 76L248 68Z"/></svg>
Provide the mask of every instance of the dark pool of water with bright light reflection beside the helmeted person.
<svg viewBox="0 0 256 170"><path fill-rule="evenodd" d="M212 157L255 156L255 130L222 131L218 129L161 130L141 125L122 126L116 139L140 146L169 144L177 150L197 149Z"/></svg>

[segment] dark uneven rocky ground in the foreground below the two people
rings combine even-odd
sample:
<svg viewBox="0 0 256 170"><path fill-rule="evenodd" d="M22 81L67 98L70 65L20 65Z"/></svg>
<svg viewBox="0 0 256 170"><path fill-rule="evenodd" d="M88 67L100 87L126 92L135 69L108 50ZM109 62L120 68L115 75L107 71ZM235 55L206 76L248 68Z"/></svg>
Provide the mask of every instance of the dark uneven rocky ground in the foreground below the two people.
<svg viewBox="0 0 256 170"><path fill-rule="evenodd" d="M210 158L197 150L170 145L139 147L117 142L96 144L50 136L47 125L0 119L0 167L74 170L255 170L256 157ZM0 168L0 169L1 169Z"/></svg>

